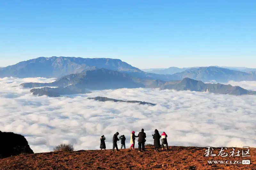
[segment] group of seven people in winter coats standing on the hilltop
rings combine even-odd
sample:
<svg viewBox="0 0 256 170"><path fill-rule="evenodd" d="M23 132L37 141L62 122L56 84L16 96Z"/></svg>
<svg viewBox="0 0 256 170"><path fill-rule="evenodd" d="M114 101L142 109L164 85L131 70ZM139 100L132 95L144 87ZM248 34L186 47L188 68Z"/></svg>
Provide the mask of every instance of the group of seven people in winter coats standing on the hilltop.
<svg viewBox="0 0 256 170"><path fill-rule="evenodd" d="M119 151L118 147L117 147L117 141L121 140L121 149L125 149L125 136L124 135L121 135L119 138L117 137L119 135L118 132L116 132L113 136L113 151L116 150ZM167 150L168 149L168 143L167 143L167 135L165 132L162 133L162 135L159 134L158 130L155 129L155 134L153 135L153 139L154 139L154 146L155 146L155 152L158 152L159 151L159 148L162 147L162 150L164 150L164 145L165 146L165 149ZM145 142L146 142L146 133L144 132L144 129L141 129L141 132L139 132L139 134L136 136L135 135L135 132L132 131L131 133L131 140L130 140L130 143L132 144L130 146L130 149L131 150L134 150L134 146L135 146L135 138L138 137L138 150L139 152L141 152L141 149L142 151L145 151ZM162 138L162 144L160 144L160 138ZM100 149L106 149L106 144L105 144L105 136L102 135L100 137Z"/></svg>

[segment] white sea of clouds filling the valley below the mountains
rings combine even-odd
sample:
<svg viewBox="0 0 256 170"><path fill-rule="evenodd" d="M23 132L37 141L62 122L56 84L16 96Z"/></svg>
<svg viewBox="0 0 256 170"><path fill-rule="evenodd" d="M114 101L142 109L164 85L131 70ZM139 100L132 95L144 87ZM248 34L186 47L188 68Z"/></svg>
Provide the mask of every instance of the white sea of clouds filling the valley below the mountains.
<svg viewBox="0 0 256 170"><path fill-rule="evenodd" d="M256 95L232 96L207 92L118 89L94 91L69 97L38 97L19 86L23 82L51 82L54 79L0 79L0 130L22 134L34 152L52 151L60 143L72 143L75 150L99 149L106 136L112 149L116 132L137 135L141 128L146 143L153 143L155 129L168 135L169 145L256 147ZM256 82L229 82L256 90ZM139 100L156 106L99 102L87 97ZM118 142L120 147L120 142ZM138 147L136 142L136 147Z"/></svg>

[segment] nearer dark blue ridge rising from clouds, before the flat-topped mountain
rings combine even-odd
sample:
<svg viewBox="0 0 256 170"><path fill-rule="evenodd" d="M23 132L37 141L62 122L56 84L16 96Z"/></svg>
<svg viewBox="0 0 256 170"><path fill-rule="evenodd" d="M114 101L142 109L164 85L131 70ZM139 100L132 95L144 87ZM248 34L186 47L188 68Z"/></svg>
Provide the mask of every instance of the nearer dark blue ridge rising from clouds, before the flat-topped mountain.
<svg viewBox="0 0 256 170"><path fill-rule="evenodd" d="M31 89L34 95L59 97L60 95L88 93L90 90L121 89L121 88L160 88L175 90L191 90L212 92L217 94L245 95L256 94L238 86L204 83L202 81L183 78L181 81L162 81L134 78L127 73L107 69L87 70L82 73L70 74L51 83L22 83ZM49 88L57 87L57 88Z"/></svg>

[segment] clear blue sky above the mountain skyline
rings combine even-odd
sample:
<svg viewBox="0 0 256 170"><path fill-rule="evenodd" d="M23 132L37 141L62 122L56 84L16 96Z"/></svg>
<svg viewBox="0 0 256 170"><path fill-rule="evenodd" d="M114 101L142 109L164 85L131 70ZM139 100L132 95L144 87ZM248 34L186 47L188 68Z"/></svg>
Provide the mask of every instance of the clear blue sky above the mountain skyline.
<svg viewBox="0 0 256 170"><path fill-rule="evenodd" d="M37 57L256 67L255 0L0 1L0 66Z"/></svg>

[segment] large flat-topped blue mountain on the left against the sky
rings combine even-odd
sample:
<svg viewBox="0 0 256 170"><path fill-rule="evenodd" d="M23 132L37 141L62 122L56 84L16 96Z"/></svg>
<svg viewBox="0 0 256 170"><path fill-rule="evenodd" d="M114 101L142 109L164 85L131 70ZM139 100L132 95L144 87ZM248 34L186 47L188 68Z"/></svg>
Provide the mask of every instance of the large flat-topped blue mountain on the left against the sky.
<svg viewBox="0 0 256 170"><path fill-rule="evenodd" d="M140 70L120 59L112 58L76 58L76 57L39 57L19 62L0 70L0 77L45 77L59 78L72 73L80 73L84 70L105 68L109 70Z"/></svg>

